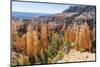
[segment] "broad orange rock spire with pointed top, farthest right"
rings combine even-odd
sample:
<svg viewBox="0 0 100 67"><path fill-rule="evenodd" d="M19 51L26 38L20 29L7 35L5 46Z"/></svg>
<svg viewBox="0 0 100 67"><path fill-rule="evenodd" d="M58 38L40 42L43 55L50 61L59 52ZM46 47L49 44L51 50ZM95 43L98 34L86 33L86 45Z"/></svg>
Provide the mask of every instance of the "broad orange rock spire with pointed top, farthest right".
<svg viewBox="0 0 100 67"><path fill-rule="evenodd" d="M80 28L79 48L85 49L85 50L91 49L90 29L89 29L89 26L86 22Z"/></svg>

